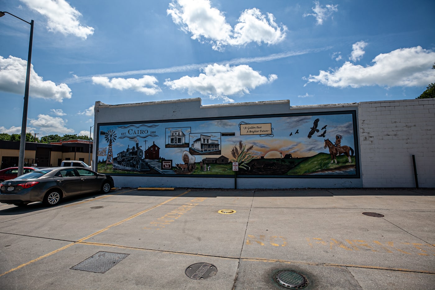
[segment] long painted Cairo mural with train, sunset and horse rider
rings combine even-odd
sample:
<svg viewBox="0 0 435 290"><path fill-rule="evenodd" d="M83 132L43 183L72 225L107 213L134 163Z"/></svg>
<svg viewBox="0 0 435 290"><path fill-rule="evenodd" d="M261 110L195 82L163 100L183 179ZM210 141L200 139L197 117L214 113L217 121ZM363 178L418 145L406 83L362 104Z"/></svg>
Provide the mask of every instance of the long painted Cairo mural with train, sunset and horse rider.
<svg viewBox="0 0 435 290"><path fill-rule="evenodd" d="M99 124L97 171L116 175L359 178L356 112Z"/></svg>

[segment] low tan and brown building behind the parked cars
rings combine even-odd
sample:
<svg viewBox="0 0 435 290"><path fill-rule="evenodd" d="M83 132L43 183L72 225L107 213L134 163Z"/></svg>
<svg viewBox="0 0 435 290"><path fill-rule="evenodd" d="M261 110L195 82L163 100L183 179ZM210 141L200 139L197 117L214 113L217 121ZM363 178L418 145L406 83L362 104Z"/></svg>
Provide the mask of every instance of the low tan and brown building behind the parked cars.
<svg viewBox="0 0 435 290"><path fill-rule="evenodd" d="M90 147L90 150L89 150ZM18 166L20 142L0 140L1 169ZM92 160L92 142L89 140L68 140L50 144L26 142L24 165L60 166L62 160Z"/></svg>

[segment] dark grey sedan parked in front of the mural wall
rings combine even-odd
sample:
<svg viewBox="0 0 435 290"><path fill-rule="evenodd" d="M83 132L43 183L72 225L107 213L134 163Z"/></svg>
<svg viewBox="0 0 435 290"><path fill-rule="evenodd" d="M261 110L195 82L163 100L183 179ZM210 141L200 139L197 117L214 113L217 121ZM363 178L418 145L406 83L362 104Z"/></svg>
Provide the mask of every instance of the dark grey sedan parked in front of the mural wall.
<svg viewBox="0 0 435 290"><path fill-rule="evenodd" d="M81 193L108 193L114 187L110 175L81 167L50 167L38 169L0 184L0 202L26 206L43 202L55 206L64 197Z"/></svg>

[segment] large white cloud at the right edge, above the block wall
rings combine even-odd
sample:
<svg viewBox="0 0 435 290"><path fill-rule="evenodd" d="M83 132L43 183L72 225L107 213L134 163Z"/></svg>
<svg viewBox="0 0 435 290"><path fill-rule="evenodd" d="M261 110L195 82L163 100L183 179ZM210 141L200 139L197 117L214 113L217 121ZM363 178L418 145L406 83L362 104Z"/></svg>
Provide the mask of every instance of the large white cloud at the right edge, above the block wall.
<svg viewBox="0 0 435 290"><path fill-rule="evenodd" d="M435 52L422 47L400 48L388 54L379 54L373 65L363 67L346 61L336 70L320 71L311 75L308 82L318 82L335 88L362 86L412 87L433 82L431 70ZM306 85L306 84L305 84Z"/></svg>

